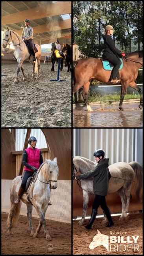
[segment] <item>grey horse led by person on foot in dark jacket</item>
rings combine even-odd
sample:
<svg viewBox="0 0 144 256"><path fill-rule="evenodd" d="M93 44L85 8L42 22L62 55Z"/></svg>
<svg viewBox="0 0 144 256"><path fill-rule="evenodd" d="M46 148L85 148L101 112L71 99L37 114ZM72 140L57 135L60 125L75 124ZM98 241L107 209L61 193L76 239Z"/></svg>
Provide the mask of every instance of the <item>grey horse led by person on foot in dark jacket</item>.
<svg viewBox="0 0 144 256"><path fill-rule="evenodd" d="M96 167L95 163L82 156L74 156L73 158L73 176L79 172L86 173ZM108 193L118 192L122 201L122 217L127 217L129 202L131 198L131 186L135 180L135 194L137 200L141 201L140 191L142 188L142 166L138 162L119 162L109 165L109 172L111 178L109 180ZM93 178L81 180L81 188L83 189L83 213L79 224L82 225L87 213L87 206L89 203L89 196L93 193ZM105 215L105 214L104 214Z"/></svg>

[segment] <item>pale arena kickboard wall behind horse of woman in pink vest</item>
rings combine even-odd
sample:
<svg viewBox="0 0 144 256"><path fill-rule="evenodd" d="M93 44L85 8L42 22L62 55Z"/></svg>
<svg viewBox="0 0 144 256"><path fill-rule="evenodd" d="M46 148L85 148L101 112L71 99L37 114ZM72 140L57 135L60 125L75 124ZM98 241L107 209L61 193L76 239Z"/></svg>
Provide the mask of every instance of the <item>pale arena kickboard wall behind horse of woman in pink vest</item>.
<svg viewBox="0 0 144 256"><path fill-rule="evenodd" d="M51 206L45 214L45 218L52 221L71 223L71 180L58 180L56 189L51 189ZM10 210L10 187L12 180L2 180L2 212ZM27 216L27 206L22 202L20 215ZM32 217L39 218L33 207Z"/></svg>

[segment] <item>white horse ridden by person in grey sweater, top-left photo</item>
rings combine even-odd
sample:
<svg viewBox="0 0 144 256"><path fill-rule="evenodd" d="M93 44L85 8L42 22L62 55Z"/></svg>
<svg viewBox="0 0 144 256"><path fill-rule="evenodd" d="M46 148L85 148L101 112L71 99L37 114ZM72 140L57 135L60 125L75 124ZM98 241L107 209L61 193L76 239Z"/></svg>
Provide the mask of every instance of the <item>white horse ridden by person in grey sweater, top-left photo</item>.
<svg viewBox="0 0 144 256"><path fill-rule="evenodd" d="M17 76L15 78L14 83L18 83L18 74L20 72L20 69L22 70L22 74L24 76L23 81L26 81L26 74L24 73L24 67L23 62L28 61L29 58L32 60L32 56L30 57L30 53L28 52L28 48L26 44L24 43L23 39L13 30L9 30L7 27L7 30L4 32L2 37L2 47L6 48L6 46L12 42L13 46L15 48L15 58L18 62L17 67ZM33 72L32 72L32 78L35 77L35 73L37 73L37 79L39 78L39 71L40 71L40 58L41 58L41 47L37 44L35 44L38 52L35 53L36 63L35 61L32 61L33 65Z"/></svg>

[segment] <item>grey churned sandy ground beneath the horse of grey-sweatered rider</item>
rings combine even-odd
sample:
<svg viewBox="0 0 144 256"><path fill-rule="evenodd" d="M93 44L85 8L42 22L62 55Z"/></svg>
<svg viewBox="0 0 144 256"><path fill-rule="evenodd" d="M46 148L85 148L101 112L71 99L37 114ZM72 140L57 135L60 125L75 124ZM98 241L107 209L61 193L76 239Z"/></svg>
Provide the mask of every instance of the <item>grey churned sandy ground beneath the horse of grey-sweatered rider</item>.
<svg viewBox="0 0 144 256"><path fill-rule="evenodd" d="M60 71L54 82L52 64L41 63L39 80L32 79L32 64L24 63L28 80L23 82L22 71L18 84L13 84L17 74L17 63L3 63L2 74L2 127L71 127L71 72L67 67ZM35 76L36 77L36 76Z"/></svg>

